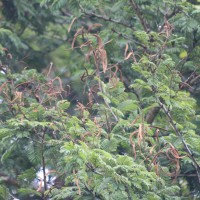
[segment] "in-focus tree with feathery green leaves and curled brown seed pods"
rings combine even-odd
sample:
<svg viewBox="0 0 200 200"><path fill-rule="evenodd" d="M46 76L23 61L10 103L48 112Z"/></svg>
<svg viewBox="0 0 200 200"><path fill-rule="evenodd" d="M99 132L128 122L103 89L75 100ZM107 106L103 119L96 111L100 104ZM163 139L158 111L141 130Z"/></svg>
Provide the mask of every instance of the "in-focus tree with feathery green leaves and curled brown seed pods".
<svg viewBox="0 0 200 200"><path fill-rule="evenodd" d="M87 60L74 76L84 87L72 85L83 99L71 101L52 66L11 72L3 44L0 197L198 197L199 10L162 0L41 5L71 19L71 48Z"/></svg>

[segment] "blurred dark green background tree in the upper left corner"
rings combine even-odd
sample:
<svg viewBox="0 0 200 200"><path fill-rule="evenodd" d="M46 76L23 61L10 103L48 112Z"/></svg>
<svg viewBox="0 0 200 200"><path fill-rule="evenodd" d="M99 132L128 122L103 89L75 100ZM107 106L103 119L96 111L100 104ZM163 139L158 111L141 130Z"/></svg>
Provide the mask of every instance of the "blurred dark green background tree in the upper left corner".
<svg viewBox="0 0 200 200"><path fill-rule="evenodd" d="M65 34L62 17L41 7L37 0L2 0L0 4L1 47L13 55L10 67L15 71L24 67L41 71L49 64L50 53L65 41L61 37Z"/></svg>

